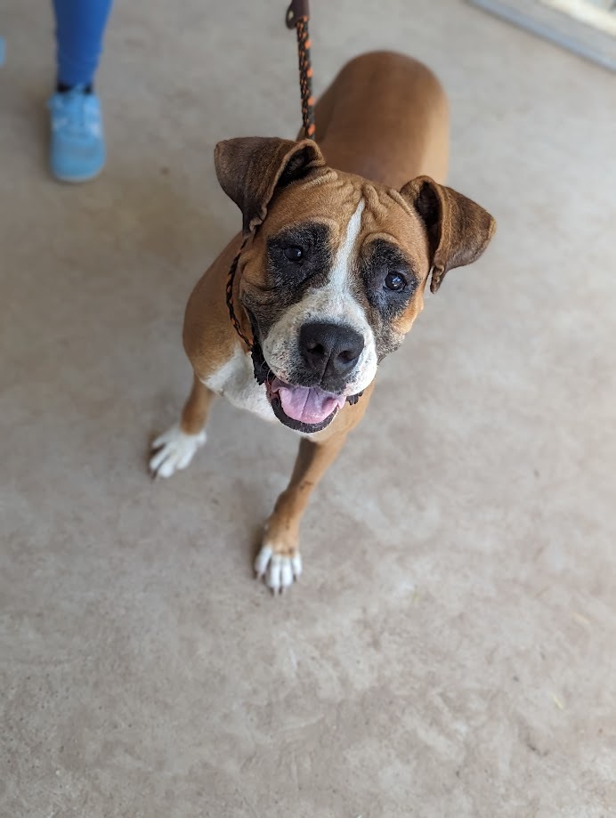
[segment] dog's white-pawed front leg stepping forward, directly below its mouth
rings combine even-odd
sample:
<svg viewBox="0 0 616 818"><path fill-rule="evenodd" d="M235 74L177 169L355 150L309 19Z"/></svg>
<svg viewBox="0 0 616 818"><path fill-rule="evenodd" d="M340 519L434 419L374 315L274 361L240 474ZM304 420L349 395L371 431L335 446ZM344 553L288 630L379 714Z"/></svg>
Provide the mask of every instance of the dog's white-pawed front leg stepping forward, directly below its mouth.
<svg viewBox="0 0 616 818"><path fill-rule="evenodd" d="M255 560L257 577L263 577L274 594L292 585L302 572L299 523L312 490L342 449L345 438L345 433L338 433L323 442L303 438L299 444L291 481L265 523L263 545Z"/></svg>

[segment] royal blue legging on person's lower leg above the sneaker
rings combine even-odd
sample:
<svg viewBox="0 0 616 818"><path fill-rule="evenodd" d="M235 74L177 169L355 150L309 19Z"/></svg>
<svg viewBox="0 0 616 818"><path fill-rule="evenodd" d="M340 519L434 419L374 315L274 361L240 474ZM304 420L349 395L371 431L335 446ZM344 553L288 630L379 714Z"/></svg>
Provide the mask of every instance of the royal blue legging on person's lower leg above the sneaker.
<svg viewBox="0 0 616 818"><path fill-rule="evenodd" d="M58 82L90 85L113 0L53 0L58 44Z"/></svg>

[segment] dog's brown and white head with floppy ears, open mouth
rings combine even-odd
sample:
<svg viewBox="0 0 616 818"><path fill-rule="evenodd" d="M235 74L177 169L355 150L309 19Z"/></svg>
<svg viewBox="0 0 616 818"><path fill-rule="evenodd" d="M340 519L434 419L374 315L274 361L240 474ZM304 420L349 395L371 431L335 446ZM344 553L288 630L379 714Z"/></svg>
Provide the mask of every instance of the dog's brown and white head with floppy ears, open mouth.
<svg viewBox="0 0 616 818"><path fill-rule="evenodd" d="M243 215L239 293L272 409L325 428L401 344L453 267L479 258L490 214L427 176L401 190L332 170L315 142L220 142L215 167ZM255 354L255 352L254 352Z"/></svg>

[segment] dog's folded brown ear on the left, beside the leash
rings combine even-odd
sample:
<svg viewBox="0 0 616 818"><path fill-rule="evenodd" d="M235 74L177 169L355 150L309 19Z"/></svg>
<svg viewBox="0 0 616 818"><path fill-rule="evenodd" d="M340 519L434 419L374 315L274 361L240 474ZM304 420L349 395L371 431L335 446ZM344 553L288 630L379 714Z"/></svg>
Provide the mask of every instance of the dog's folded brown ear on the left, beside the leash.
<svg viewBox="0 0 616 818"><path fill-rule="evenodd" d="M242 212L245 233L263 222L274 190L325 165L312 139L292 142L261 136L218 142L214 162L221 187Z"/></svg>

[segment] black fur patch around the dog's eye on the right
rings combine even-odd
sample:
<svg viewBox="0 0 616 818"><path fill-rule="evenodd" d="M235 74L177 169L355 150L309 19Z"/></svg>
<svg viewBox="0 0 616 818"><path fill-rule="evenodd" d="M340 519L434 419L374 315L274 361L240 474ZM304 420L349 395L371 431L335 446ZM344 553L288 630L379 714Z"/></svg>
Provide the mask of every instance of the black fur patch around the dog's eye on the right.
<svg viewBox="0 0 616 818"><path fill-rule="evenodd" d="M403 312L417 289L419 278L399 247L385 239L375 239L364 248L361 275L369 303L383 320L392 320ZM403 286L399 286L402 279ZM396 287L392 288L392 281Z"/></svg>

